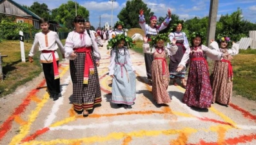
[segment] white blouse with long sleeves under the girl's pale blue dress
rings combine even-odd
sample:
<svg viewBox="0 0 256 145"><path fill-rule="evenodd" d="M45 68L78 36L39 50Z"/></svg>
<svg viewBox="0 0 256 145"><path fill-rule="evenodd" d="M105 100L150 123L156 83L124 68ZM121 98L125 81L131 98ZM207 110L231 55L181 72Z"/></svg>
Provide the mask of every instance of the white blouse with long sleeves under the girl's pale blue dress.
<svg viewBox="0 0 256 145"><path fill-rule="evenodd" d="M111 59L110 59L110 66L108 66L108 71L109 71L108 75L113 75L113 73L114 73L115 55L116 55L115 51L116 50L117 49L115 49L115 48L111 50L111 54L110 54L111 55ZM126 52L125 57L126 57L127 65L132 67L132 70L135 71L135 68L132 65L132 61L131 61L130 53L129 53L128 49L126 47L124 47L124 48L119 48L117 51L119 51L120 53L124 53L124 50Z"/></svg>

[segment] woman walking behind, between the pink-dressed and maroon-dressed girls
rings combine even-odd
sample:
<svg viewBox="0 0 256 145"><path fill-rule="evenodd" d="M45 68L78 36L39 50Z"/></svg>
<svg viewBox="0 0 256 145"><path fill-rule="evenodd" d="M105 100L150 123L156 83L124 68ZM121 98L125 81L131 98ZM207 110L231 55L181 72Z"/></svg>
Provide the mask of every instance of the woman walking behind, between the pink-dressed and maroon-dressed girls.
<svg viewBox="0 0 256 145"><path fill-rule="evenodd" d="M173 30L169 34L170 41L172 39L176 39L176 44L172 44L173 47L177 47L178 50L175 55L170 57L170 64L169 64L169 72L170 72L170 79L173 80L173 84L177 86L176 79L181 79L182 86L186 88L186 81L185 81L185 73L186 70L182 70L181 72L177 72L176 69L181 63L181 59L186 51L186 48L189 47L188 39L182 30L182 21L178 21L177 23L173 24ZM188 65L186 65L188 66Z"/></svg>

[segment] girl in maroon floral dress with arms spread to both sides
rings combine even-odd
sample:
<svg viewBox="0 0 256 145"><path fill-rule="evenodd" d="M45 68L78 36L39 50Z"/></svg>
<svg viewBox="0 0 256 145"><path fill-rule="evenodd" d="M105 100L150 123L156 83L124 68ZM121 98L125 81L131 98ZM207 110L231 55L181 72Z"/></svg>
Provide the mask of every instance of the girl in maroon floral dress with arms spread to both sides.
<svg viewBox="0 0 256 145"><path fill-rule="evenodd" d="M190 59L190 70L186 92L182 101L188 106L197 108L210 108L212 104L212 87L208 72L208 64L204 55L213 60L221 60L225 55L222 52L211 50L202 44L202 35L193 33L192 44L186 49L177 72L184 70L186 62Z"/></svg>

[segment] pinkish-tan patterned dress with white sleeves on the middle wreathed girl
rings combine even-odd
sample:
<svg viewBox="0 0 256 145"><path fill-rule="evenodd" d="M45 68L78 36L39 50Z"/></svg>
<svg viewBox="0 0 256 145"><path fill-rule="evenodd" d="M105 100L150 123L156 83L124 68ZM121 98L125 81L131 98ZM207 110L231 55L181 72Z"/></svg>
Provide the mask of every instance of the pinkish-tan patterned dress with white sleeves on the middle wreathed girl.
<svg viewBox="0 0 256 145"><path fill-rule="evenodd" d="M152 61L152 95L157 104L166 104L171 102L171 98L167 92L170 77L168 71L168 65L166 63L166 53L168 56L172 56L177 52L177 48L153 48L150 49L148 43L143 44L143 50L145 53L153 55Z"/></svg>

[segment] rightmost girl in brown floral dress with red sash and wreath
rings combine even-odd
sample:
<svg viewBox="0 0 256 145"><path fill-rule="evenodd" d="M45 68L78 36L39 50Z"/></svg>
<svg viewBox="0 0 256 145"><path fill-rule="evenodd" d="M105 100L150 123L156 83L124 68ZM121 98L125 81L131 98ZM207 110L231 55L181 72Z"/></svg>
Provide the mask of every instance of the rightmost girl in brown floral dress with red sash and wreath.
<svg viewBox="0 0 256 145"><path fill-rule="evenodd" d="M231 66L232 55L237 55L239 53L239 44L234 42L232 47L228 48L228 43L230 43L229 37L222 37L219 40L219 44L216 41L212 43L212 49L218 52L222 52L228 55L227 58L221 61L215 61L213 72L211 75L212 102L219 102L224 105L228 105L231 101L232 87L233 87L233 71Z"/></svg>

